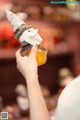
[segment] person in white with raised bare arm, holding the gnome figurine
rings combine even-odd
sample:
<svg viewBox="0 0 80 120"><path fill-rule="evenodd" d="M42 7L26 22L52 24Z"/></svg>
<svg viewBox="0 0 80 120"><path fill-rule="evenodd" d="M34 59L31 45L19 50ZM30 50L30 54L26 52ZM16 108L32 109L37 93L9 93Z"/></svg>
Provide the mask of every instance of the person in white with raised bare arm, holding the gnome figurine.
<svg viewBox="0 0 80 120"><path fill-rule="evenodd" d="M37 47L33 46L29 57L22 57L20 51L21 49L16 52L16 62L18 70L24 76L27 83L30 118L31 120L50 120L38 81ZM80 120L79 94L80 76L70 82L61 93L55 120Z"/></svg>

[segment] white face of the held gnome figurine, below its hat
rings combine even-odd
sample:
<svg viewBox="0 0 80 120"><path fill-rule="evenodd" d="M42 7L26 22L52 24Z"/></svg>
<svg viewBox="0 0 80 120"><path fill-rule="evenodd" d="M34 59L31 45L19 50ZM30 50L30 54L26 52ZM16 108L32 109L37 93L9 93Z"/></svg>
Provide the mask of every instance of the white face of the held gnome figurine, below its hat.
<svg viewBox="0 0 80 120"><path fill-rule="evenodd" d="M40 43L42 42L42 38L38 34L38 29L30 28L28 30L25 30L21 35L20 42L23 41L26 41L31 45L40 45Z"/></svg>

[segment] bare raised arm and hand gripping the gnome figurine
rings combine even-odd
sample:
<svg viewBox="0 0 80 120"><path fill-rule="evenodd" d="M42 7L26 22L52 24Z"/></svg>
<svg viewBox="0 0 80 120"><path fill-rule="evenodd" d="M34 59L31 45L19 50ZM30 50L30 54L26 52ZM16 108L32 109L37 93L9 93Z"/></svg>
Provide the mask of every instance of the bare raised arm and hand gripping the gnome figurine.
<svg viewBox="0 0 80 120"><path fill-rule="evenodd" d="M29 57L22 57L20 50L17 51L17 68L22 73L27 83L31 120L49 120L48 110L38 82L36 52L36 46L33 46Z"/></svg>

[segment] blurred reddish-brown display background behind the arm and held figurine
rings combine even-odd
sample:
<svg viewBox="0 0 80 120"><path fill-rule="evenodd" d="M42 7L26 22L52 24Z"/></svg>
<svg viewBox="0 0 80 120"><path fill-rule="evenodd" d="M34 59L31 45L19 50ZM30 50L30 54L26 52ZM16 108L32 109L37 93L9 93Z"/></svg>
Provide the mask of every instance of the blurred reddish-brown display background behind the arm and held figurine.
<svg viewBox="0 0 80 120"><path fill-rule="evenodd" d="M25 113L29 119L28 101L24 100L27 93L23 92L26 82L15 60L15 52L21 45L12 37L5 8L39 29L43 38L41 46L48 50L48 58L39 67L39 81L52 115L63 88L80 74L80 5L51 4L50 0L0 0L0 111L8 111L10 120L23 120Z"/></svg>

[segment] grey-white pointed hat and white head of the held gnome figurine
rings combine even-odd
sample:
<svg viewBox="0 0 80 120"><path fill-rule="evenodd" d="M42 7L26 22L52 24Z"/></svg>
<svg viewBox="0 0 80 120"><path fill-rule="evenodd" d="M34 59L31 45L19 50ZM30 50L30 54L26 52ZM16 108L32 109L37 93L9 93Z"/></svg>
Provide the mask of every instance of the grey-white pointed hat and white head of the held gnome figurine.
<svg viewBox="0 0 80 120"><path fill-rule="evenodd" d="M38 29L25 24L24 21L9 10L6 10L6 15L13 27L15 37L19 39L22 46L25 46L28 43L31 45L40 45L42 38L38 34Z"/></svg>

